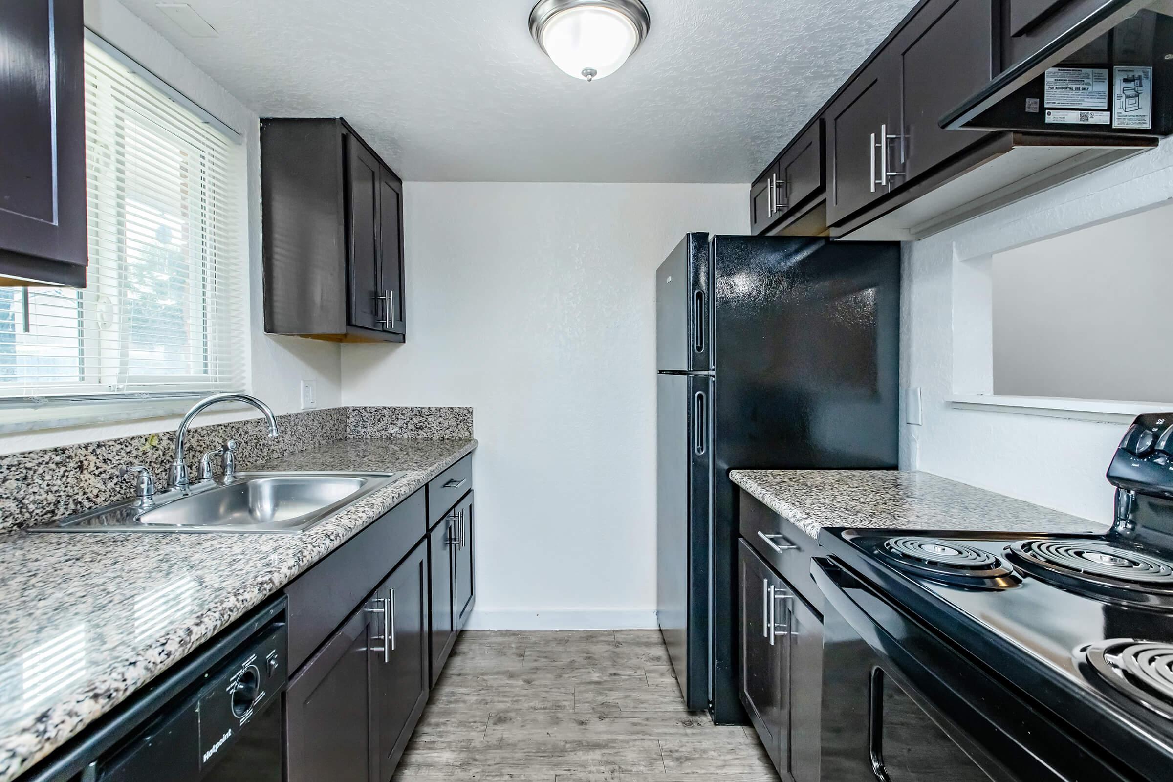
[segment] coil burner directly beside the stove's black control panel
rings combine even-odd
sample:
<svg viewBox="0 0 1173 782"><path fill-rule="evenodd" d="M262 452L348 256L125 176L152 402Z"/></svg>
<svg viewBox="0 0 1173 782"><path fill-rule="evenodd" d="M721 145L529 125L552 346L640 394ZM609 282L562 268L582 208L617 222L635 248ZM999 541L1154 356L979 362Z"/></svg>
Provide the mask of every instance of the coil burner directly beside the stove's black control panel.
<svg viewBox="0 0 1173 782"><path fill-rule="evenodd" d="M1063 589L1106 600L1173 608L1173 563L1104 540L1019 540L1006 556L1021 570Z"/></svg>

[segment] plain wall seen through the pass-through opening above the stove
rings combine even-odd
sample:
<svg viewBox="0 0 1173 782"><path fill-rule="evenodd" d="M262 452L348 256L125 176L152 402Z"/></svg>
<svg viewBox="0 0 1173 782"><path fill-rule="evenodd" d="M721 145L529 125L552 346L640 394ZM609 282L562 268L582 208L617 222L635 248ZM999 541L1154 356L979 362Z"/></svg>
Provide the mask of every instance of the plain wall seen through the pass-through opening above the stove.
<svg viewBox="0 0 1173 782"><path fill-rule="evenodd" d="M992 258L994 393L1173 402L1173 205ZM1139 370L1141 367L1145 369Z"/></svg>

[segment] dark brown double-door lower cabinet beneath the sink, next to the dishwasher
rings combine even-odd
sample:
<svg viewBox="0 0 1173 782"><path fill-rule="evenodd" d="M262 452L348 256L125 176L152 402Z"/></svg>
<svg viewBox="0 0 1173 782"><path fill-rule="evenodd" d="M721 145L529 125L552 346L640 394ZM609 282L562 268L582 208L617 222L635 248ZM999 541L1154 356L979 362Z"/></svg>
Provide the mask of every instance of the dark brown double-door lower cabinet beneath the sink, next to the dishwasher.
<svg viewBox="0 0 1173 782"><path fill-rule="evenodd" d="M285 694L289 782L387 782L428 699L420 543L301 666Z"/></svg>

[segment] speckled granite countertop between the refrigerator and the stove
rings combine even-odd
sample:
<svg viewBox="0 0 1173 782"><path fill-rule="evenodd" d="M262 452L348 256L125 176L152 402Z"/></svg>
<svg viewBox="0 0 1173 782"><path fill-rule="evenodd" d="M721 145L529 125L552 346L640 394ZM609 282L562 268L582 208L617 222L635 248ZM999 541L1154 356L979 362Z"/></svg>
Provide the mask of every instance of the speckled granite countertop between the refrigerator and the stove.
<svg viewBox="0 0 1173 782"><path fill-rule="evenodd" d="M733 470L730 478L813 538L826 526L990 532L1107 526L929 472Z"/></svg>

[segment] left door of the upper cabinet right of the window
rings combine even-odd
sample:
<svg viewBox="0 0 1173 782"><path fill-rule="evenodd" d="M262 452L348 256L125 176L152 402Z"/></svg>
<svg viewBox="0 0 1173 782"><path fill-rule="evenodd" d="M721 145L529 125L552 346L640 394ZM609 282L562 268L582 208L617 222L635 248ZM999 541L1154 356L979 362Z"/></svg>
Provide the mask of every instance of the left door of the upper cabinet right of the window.
<svg viewBox="0 0 1173 782"><path fill-rule="evenodd" d="M379 182L381 169L374 156L353 136L348 151L350 216L347 224L347 310L350 324L382 328L382 293L379 290Z"/></svg>

